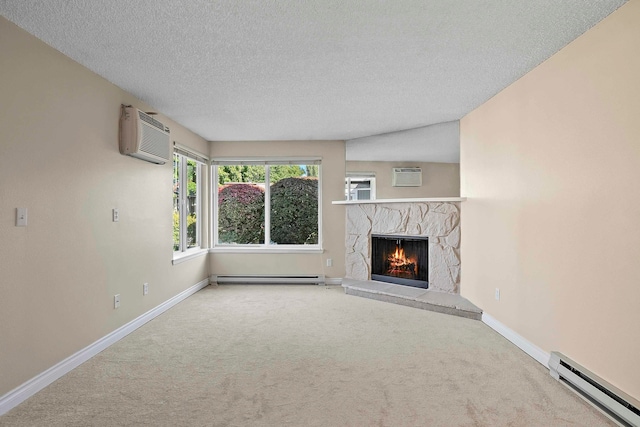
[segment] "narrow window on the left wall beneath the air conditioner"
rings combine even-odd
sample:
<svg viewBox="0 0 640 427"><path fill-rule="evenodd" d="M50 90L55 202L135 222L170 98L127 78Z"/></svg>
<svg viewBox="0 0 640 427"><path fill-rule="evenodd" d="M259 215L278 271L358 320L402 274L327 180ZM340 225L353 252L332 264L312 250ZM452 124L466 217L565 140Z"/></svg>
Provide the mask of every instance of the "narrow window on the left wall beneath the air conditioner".
<svg viewBox="0 0 640 427"><path fill-rule="evenodd" d="M181 150L173 154L173 250L186 252L201 246L201 177L204 159Z"/></svg>

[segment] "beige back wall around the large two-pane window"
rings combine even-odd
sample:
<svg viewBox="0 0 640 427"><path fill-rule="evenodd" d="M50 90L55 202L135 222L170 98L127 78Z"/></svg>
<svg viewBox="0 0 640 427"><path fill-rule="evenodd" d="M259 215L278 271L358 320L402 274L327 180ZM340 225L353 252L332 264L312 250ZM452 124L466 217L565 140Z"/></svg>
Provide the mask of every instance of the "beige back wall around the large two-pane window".
<svg viewBox="0 0 640 427"><path fill-rule="evenodd" d="M322 242L324 252L287 254L210 254L211 274L325 274L344 277L344 141L211 142L211 158L221 157L321 157ZM333 266L327 267L331 258ZM250 259L250 261L248 261Z"/></svg>

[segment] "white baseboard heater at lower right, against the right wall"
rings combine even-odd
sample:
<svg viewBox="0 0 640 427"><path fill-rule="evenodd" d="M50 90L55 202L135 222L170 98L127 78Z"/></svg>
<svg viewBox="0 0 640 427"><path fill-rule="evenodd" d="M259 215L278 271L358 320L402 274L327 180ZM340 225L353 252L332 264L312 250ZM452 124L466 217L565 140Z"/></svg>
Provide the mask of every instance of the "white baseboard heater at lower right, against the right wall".
<svg viewBox="0 0 640 427"><path fill-rule="evenodd" d="M640 402L567 356L551 352L549 373L622 426L640 426Z"/></svg>

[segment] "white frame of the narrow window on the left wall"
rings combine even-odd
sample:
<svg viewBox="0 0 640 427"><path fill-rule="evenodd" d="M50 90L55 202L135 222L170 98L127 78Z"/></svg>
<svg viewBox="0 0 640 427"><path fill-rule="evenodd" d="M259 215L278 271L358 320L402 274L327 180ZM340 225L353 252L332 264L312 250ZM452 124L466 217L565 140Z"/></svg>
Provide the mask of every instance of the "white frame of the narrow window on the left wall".
<svg viewBox="0 0 640 427"><path fill-rule="evenodd" d="M179 248L177 250L174 250L173 252L173 259L175 264L177 260L190 259L201 252L206 253L206 251L203 252L202 250L203 248L202 238L204 237L202 233L202 228L203 228L203 221L205 221L205 216L203 215L205 210L204 210L204 207L202 206L202 201L203 201L202 196L203 196L203 191L205 190L203 185L204 168L209 163L209 161L198 154L192 153L178 146L174 148L173 154L177 155L180 159L180 162L179 162L180 173L179 173L179 185L178 185L178 188L180 189L178 193L178 205L180 206ZM197 245L191 248L187 247L187 215L185 214L186 206L187 206L187 198L188 198L187 160L195 161L197 165L196 211L195 211L196 218L197 218L197 222L196 222Z"/></svg>

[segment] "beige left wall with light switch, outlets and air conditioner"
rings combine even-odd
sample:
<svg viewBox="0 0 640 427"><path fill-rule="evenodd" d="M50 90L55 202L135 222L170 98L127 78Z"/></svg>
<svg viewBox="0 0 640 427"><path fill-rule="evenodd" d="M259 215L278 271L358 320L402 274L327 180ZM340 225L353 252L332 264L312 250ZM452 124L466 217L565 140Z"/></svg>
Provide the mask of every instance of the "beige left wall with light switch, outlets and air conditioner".
<svg viewBox="0 0 640 427"><path fill-rule="evenodd" d="M1 17L0 40L2 396L207 278L208 264L171 265L171 164L118 152L120 104L147 107Z"/></svg>

